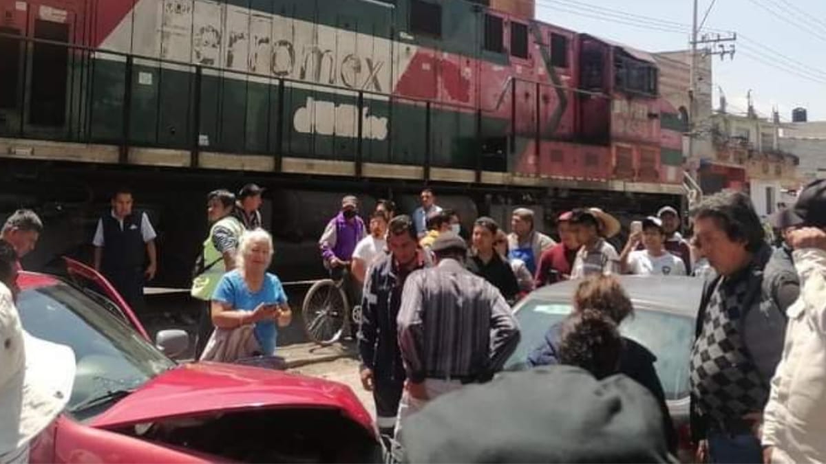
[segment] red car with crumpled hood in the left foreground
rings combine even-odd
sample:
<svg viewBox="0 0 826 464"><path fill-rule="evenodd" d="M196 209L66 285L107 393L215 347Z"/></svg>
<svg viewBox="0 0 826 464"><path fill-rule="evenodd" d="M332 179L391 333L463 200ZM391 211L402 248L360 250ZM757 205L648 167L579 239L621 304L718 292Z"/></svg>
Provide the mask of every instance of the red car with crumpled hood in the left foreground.
<svg viewBox="0 0 826 464"><path fill-rule="evenodd" d="M17 305L31 334L74 349L64 414L31 462L377 462L370 414L347 386L229 364L178 364L187 334L150 342L97 272L22 272ZM74 281L74 282L72 282ZM85 281L92 285L78 285Z"/></svg>

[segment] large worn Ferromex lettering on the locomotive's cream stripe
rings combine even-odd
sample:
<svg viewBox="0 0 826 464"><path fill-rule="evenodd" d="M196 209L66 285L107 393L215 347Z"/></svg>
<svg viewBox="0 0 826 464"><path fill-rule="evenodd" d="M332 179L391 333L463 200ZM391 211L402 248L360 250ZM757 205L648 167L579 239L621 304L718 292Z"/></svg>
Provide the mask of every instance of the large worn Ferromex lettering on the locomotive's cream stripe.
<svg viewBox="0 0 826 464"><path fill-rule="evenodd" d="M390 92L390 40L225 2L165 0L162 59L368 92ZM156 49L157 50L157 49Z"/></svg>

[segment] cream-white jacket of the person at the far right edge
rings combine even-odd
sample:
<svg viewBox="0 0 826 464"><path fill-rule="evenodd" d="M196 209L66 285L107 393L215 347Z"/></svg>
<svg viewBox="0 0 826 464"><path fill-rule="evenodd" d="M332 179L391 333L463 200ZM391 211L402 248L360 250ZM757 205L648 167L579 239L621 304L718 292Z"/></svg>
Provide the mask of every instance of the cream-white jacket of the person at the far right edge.
<svg viewBox="0 0 826 464"><path fill-rule="evenodd" d="M763 411L772 462L826 462L826 251L796 250L800 298L789 307L783 357Z"/></svg>

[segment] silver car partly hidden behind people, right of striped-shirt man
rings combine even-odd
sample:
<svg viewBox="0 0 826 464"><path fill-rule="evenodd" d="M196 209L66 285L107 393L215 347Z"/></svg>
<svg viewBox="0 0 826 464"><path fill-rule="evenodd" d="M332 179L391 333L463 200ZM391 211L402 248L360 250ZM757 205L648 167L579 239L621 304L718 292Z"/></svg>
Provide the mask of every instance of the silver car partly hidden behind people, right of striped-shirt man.
<svg viewBox="0 0 826 464"><path fill-rule="evenodd" d="M634 315L620 325L620 333L641 343L656 357L668 410L680 438L681 461L691 452L689 428L689 357L703 279L697 277L618 276L634 304ZM560 282L532 292L515 306L522 337L506 370L527 367L534 348L544 343L548 329L573 310L578 281Z"/></svg>

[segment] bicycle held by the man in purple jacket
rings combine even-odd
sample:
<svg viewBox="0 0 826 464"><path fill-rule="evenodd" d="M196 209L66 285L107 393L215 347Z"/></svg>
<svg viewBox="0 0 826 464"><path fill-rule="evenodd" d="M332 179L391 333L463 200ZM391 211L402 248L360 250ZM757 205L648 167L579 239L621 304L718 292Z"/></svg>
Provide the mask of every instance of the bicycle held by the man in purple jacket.
<svg viewBox="0 0 826 464"><path fill-rule="evenodd" d="M350 282L349 262L342 264L339 278L314 283L304 297L301 316L308 339L321 346L331 345L344 334L344 322L357 327L361 322L361 305L350 305L346 286Z"/></svg>

